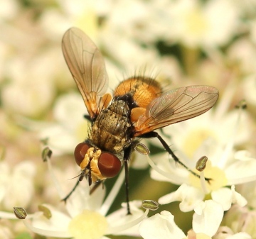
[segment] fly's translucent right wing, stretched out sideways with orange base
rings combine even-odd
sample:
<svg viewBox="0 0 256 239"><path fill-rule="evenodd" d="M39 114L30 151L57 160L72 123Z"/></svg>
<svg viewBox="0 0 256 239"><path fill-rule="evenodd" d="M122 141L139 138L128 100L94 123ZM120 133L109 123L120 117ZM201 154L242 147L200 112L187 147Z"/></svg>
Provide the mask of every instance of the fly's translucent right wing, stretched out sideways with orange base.
<svg viewBox="0 0 256 239"><path fill-rule="evenodd" d="M218 89L208 86L181 87L151 101L135 123L135 136L172 123L186 121L208 111L218 99Z"/></svg>

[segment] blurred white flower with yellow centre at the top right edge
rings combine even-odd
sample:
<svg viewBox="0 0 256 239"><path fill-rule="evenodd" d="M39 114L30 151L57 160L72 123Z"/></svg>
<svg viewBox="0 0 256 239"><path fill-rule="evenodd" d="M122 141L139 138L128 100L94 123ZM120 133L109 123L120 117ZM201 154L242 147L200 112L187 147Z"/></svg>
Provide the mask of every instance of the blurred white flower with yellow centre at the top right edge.
<svg viewBox="0 0 256 239"><path fill-rule="evenodd" d="M231 1L174 1L169 14L169 38L190 48L226 44L238 29L239 9Z"/></svg>

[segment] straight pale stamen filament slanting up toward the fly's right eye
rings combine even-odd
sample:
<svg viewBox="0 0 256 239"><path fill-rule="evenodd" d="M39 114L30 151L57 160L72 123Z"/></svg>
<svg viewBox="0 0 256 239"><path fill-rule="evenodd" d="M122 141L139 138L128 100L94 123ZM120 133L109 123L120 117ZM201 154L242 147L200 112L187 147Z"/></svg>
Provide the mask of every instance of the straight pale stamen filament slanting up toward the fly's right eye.
<svg viewBox="0 0 256 239"><path fill-rule="evenodd" d="M100 214L106 215L107 212L110 210L110 206L112 205L112 202L117 197L117 194L122 187L122 184L124 182L124 168L120 172L117 181L114 183L114 187L112 187L112 190L110 191L110 194L108 194L107 199L105 199L104 203L100 207Z"/></svg>

